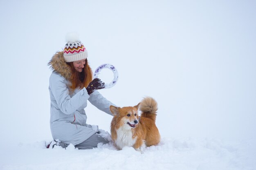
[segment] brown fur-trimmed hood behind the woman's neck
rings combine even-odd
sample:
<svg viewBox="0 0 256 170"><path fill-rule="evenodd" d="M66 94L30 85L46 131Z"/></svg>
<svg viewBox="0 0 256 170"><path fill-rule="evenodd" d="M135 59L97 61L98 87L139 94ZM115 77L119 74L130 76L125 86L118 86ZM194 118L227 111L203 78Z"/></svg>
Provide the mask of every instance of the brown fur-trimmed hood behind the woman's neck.
<svg viewBox="0 0 256 170"><path fill-rule="evenodd" d="M62 75L65 79L70 81L71 67L65 62L63 51L58 51L52 56L48 66L53 69L56 73Z"/></svg>

